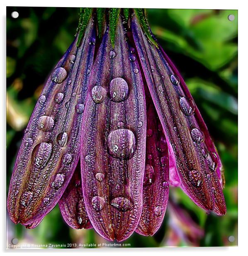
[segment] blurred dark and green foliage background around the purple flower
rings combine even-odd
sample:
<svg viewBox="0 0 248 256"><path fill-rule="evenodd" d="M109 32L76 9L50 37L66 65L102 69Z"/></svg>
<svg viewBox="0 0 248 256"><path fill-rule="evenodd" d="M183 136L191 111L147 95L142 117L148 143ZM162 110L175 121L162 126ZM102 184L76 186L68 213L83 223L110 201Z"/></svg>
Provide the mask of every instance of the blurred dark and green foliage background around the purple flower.
<svg viewBox="0 0 248 256"><path fill-rule="evenodd" d="M13 11L19 17L11 17ZM7 7L7 188L24 128L46 77L73 41L78 8ZM224 217L206 214L180 188L170 188L163 225L153 237L122 244L235 246L238 243L238 12L148 9L153 33L189 87L221 156L226 177ZM228 15L235 15L234 21ZM7 243L105 243L93 229L73 230L56 206L33 230L7 217ZM107 242L109 243L109 242ZM129 245L130 244L130 245ZM90 247L90 246L89 246ZM61 248L65 248L62 246Z"/></svg>

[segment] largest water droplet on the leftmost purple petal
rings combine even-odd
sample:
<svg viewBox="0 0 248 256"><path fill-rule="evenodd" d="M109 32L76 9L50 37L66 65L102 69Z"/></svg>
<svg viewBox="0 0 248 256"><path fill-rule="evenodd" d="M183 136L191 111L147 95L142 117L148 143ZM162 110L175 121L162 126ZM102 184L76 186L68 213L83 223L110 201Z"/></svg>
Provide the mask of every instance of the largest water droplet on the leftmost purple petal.
<svg viewBox="0 0 248 256"><path fill-rule="evenodd" d="M32 162L36 168L44 168L49 161L52 153L50 143L41 142L36 145L32 151Z"/></svg>

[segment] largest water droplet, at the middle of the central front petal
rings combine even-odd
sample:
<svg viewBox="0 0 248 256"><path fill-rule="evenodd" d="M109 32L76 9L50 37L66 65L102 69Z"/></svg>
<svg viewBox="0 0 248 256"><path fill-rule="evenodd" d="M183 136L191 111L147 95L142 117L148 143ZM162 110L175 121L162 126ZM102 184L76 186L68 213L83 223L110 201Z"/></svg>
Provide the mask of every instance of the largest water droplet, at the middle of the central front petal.
<svg viewBox="0 0 248 256"><path fill-rule="evenodd" d="M108 147L114 158L131 158L136 149L134 133L128 129L113 130L108 136Z"/></svg>

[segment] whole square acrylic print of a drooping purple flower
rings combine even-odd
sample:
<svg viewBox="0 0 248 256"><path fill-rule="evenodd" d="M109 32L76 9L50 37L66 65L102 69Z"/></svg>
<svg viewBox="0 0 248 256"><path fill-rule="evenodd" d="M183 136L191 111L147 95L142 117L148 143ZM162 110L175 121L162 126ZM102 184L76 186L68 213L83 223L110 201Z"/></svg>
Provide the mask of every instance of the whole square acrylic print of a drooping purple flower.
<svg viewBox="0 0 248 256"><path fill-rule="evenodd" d="M237 22L7 7L7 248L236 246Z"/></svg>

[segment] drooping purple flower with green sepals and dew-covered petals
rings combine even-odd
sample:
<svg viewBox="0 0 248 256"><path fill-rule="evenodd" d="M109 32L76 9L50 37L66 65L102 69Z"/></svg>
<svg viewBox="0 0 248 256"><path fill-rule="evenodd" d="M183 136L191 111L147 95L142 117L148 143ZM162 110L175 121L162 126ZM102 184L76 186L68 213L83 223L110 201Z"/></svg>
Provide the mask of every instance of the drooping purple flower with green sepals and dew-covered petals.
<svg viewBox="0 0 248 256"><path fill-rule="evenodd" d="M34 228L58 203L74 229L117 241L153 235L169 185L226 213L216 148L143 10L85 8L25 130L10 219Z"/></svg>

